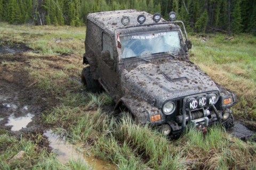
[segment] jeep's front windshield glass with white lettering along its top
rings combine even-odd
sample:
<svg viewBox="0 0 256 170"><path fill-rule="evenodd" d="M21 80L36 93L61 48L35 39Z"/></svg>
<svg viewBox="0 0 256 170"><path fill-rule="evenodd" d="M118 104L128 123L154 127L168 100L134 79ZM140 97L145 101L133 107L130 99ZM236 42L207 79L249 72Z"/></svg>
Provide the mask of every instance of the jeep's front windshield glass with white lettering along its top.
<svg viewBox="0 0 256 170"><path fill-rule="evenodd" d="M152 32L120 37L121 58L137 57L156 53L178 53L180 37L178 31Z"/></svg>

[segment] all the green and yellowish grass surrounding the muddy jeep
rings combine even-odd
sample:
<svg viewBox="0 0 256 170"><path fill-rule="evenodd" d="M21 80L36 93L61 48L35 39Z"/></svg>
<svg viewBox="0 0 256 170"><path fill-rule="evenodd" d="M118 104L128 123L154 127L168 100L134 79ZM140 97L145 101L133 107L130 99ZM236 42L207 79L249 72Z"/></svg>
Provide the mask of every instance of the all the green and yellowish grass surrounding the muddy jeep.
<svg viewBox="0 0 256 170"><path fill-rule="evenodd" d="M129 116L116 121L102 111L113 104L105 93L91 94L79 82L84 52L85 28L1 23L0 39L8 44L23 43L33 49L22 54L23 70L28 72L31 87L46 94L50 108L41 121L71 143L87 143L98 158L108 160L118 169L255 169L256 145L231 137L221 127L213 127L206 135L191 129L175 141L163 137L147 125L135 124ZM73 35L74 33L74 35ZM54 38L63 37L60 43ZM73 37L73 40L65 40ZM237 117L255 118L255 37L241 35L225 41L225 35L214 35L205 43L191 37L194 46L191 60L215 81L238 95L233 108ZM15 55L9 55L10 58ZM20 61L1 62L9 71L17 70ZM0 67L1 68L1 67ZM38 146L36 139L0 134L0 169L87 169L81 162L70 160L60 164L55 155ZM21 142L22 141L22 142ZM3 148L3 149L2 149ZM18 149L17 149L18 148ZM27 148L27 149L25 149ZM10 163L20 150L29 161Z"/></svg>

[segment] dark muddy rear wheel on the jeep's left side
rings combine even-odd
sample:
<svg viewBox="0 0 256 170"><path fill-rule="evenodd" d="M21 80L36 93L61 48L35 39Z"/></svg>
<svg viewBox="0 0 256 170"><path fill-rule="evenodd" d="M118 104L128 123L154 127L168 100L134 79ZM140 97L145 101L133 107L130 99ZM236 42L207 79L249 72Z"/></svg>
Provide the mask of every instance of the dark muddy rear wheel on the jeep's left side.
<svg viewBox="0 0 256 170"><path fill-rule="evenodd" d="M95 80L92 78L90 66L85 67L83 69L82 75L81 75L81 82L83 83L84 86L86 86L87 91L90 91L93 93L102 91L102 88L98 80Z"/></svg>

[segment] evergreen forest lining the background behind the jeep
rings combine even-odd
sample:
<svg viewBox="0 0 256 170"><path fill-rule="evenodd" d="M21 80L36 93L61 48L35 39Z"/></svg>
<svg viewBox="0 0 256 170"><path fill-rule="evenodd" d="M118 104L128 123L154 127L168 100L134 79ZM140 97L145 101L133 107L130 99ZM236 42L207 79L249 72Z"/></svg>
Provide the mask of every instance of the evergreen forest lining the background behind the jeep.
<svg viewBox="0 0 256 170"><path fill-rule="evenodd" d="M0 0L0 21L11 24L83 25L92 12L175 11L190 31L256 32L256 0Z"/></svg>

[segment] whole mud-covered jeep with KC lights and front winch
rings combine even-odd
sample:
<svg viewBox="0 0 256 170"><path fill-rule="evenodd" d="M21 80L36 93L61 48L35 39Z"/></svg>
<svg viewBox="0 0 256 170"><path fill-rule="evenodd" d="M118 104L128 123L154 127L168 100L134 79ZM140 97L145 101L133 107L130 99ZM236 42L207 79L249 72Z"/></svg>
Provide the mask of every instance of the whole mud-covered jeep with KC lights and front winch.
<svg viewBox="0 0 256 170"><path fill-rule="evenodd" d="M105 90L115 109L125 107L164 135L180 134L190 125L230 128L235 95L189 62L184 24L174 21L174 12L169 20L136 10L89 14L83 57L89 65L82 82L89 91Z"/></svg>

